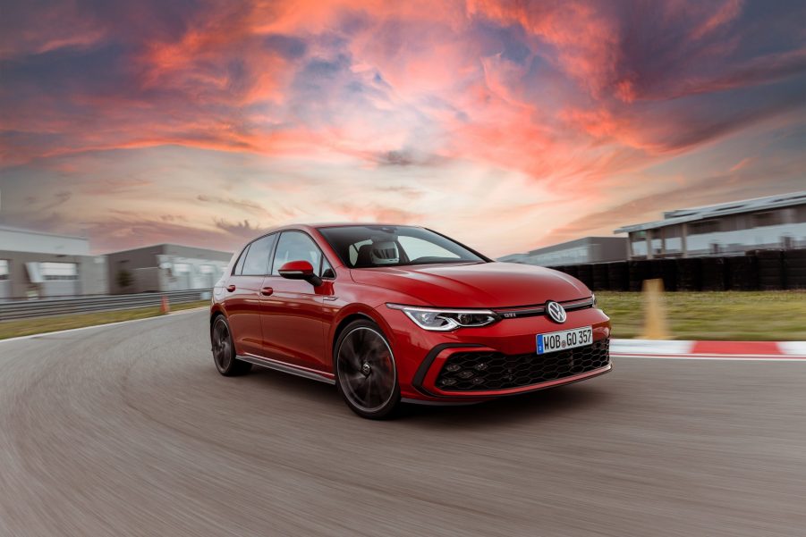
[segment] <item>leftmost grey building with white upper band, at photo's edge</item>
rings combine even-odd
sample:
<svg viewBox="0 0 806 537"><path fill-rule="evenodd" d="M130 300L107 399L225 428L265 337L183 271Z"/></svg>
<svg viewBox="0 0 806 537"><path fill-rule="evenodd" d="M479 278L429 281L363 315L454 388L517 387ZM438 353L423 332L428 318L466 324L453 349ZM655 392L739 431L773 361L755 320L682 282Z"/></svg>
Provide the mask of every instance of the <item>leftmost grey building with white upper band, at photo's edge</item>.
<svg viewBox="0 0 806 537"><path fill-rule="evenodd" d="M0 226L0 300L105 294L106 273L89 239Z"/></svg>

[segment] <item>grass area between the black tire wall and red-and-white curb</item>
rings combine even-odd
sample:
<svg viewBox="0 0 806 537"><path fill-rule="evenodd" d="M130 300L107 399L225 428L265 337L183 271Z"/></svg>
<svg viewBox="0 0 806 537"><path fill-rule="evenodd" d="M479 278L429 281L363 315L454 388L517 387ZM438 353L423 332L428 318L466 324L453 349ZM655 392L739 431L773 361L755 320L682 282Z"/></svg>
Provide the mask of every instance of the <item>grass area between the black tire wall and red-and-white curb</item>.
<svg viewBox="0 0 806 537"><path fill-rule="evenodd" d="M613 337L641 337L641 293L601 291ZM675 292L662 298L674 340L806 340L806 291Z"/></svg>

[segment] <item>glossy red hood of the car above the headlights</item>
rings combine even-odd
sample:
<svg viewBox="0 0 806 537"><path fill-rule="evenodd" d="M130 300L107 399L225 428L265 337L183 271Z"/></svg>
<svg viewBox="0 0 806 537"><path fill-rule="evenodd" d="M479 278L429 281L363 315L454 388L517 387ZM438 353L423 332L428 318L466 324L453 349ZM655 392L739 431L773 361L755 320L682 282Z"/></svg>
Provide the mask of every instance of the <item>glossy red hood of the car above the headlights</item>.
<svg viewBox="0 0 806 537"><path fill-rule="evenodd" d="M590 289L564 273L526 264L420 264L353 269L359 283L394 289L443 307L532 306L590 297Z"/></svg>

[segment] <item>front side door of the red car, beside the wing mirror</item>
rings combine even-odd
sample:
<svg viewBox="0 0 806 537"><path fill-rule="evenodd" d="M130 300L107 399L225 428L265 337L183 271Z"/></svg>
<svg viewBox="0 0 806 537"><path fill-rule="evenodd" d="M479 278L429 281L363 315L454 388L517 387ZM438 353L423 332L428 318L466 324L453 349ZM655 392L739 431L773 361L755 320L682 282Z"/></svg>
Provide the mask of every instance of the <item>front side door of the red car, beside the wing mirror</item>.
<svg viewBox="0 0 806 537"><path fill-rule="evenodd" d="M277 241L271 273L263 282L264 287L271 289L271 295L262 298L266 305L261 315L263 340L269 357L329 371L331 368L325 364L323 304L327 289L332 289L332 281L314 288L308 281L280 276L279 269L283 264L301 260L309 261L317 275L323 273L323 262L329 267L322 251L308 234L283 231Z"/></svg>

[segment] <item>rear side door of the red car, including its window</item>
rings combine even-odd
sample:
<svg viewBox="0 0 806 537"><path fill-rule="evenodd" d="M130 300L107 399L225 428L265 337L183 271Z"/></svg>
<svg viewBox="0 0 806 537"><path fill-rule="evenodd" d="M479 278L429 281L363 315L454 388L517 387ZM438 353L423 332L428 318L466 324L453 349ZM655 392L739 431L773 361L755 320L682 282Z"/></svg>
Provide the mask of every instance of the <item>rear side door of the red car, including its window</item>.
<svg viewBox="0 0 806 537"><path fill-rule="evenodd" d="M243 249L233 273L226 281L225 309L235 352L265 357L263 327L260 321L263 281L277 233L254 240Z"/></svg>

